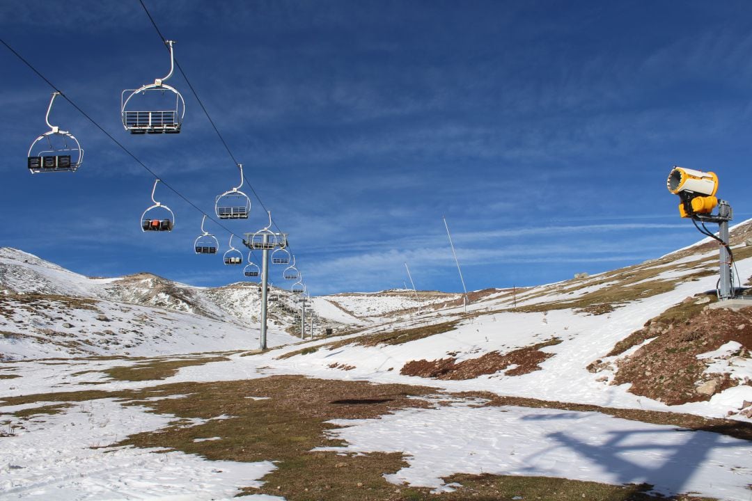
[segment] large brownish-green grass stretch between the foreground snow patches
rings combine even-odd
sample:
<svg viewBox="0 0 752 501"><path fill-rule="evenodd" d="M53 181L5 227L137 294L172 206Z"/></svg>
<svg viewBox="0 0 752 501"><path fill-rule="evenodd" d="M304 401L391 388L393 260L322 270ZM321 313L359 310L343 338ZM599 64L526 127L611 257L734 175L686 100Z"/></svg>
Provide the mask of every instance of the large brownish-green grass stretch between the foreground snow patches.
<svg viewBox="0 0 752 501"><path fill-rule="evenodd" d="M581 501L646 501L647 499L688 499L686 496L656 498L645 494L646 486L614 486L562 478L520 477L505 475L453 475L447 481L462 484L453 493L431 494L429 489L390 484L384 473L407 466L402 454L374 452L366 455L338 455L316 451L319 446L342 445L329 439L326 423L336 418L378 418L387 412L406 407L426 406L420 395L433 394L432 388L408 385L371 385L366 382L305 379L299 376L275 376L234 382L179 383L139 391L81 391L14 397L5 405L33 401L75 402L96 398L118 398L124 403L146 406L153 412L172 414L174 424L162 430L130 436L120 445L164 447L199 454L210 460L274 460L277 469L262 480L260 489L247 488L245 493L284 496L290 501L409 501L432 499L464 501L468 499L562 499ZM185 395L182 398L145 400L153 397ZM267 397L254 400L247 397ZM530 399L508 399L491 394L456 394L453 397L489 398L479 405L523 405L569 410L596 411L647 422L662 422L694 429L716 431L752 438L752 431L740 433L722 420L703 420L697 416L666 412L639 412L629 409L604 409ZM29 410L29 412L34 412ZM188 418L226 419L206 421L185 427ZM717 422L716 422L717 421ZM744 423L736 422L743 427ZM752 425L747 425L752 428ZM220 436L222 439L194 442L197 438ZM705 499L705 498L692 498Z"/></svg>

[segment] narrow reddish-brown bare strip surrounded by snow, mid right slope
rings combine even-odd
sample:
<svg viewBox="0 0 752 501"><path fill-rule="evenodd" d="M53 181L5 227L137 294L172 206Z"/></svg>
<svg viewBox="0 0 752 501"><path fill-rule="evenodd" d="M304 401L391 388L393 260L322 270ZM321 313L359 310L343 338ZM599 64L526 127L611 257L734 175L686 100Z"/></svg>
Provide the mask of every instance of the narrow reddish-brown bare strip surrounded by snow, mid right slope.
<svg viewBox="0 0 752 501"><path fill-rule="evenodd" d="M550 340L546 343L538 343L535 346L514 350L508 353L490 352L482 357L471 358L456 362L456 358L441 358L440 360L414 360L409 361L399 371L403 376L420 376L423 378L435 378L443 380L475 379L484 374L495 374L514 365L505 372L506 376L520 376L540 370L542 361L553 357L550 353L541 352L544 346L561 343L561 340Z"/></svg>

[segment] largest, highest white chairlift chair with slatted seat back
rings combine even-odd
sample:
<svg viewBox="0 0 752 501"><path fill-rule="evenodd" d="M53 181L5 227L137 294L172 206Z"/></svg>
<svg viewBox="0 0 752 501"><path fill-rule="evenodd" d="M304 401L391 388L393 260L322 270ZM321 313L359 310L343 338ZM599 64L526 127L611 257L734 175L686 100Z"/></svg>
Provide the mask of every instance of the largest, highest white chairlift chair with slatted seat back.
<svg viewBox="0 0 752 501"><path fill-rule="evenodd" d="M154 83L147 83L138 89L126 89L120 95L120 115L123 119L123 127L131 134L177 134L186 113L186 104L180 92L165 81L172 76L174 70L174 53L172 46L174 41L165 41L170 50L170 72L166 77L157 78ZM151 98L165 99L165 92L171 92L174 97L174 106L165 110L149 110L154 104ZM171 101L170 101L171 102ZM146 107L147 110L139 109Z"/></svg>

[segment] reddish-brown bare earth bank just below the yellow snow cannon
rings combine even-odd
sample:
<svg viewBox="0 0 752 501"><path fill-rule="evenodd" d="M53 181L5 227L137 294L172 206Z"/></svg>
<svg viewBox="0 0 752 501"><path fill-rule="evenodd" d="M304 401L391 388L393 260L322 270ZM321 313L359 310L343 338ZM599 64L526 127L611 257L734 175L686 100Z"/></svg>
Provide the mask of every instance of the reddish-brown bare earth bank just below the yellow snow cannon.
<svg viewBox="0 0 752 501"><path fill-rule="evenodd" d="M727 375L708 375L705 363L696 355L712 352L729 341L743 347L739 355L749 357L752 349L752 308L690 309L676 315L662 315L633 335L632 342L654 340L618 364L614 384L631 383L630 392L669 405L709 400L713 394L738 385ZM596 361L597 362L597 361ZM598 364L591 366L596 372ZM699 393L703 382L715 380L711 392ZM741 384L752 385L752 382Z"/></svg>

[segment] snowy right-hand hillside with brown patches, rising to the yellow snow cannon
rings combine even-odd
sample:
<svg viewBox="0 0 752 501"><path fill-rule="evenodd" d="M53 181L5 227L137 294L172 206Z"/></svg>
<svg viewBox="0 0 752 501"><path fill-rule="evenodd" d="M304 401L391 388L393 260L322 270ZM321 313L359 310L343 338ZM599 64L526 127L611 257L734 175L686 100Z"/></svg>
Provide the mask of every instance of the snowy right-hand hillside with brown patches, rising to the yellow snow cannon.
<svg viewBox="0 0 752 501"><path fill-rule="evenodd" d="M750 222L732 228L738 285L752 278L750 237ZM593 276L476 291L467 312L441 294L420 314L408 309L410 291L338 294L326 300L373 323L278 363L329 378L750 420L752 308L714 309L717 276L718 246L705 239Z"/></svg>

